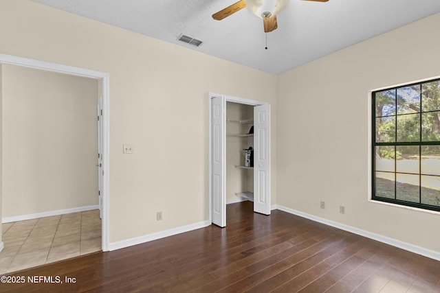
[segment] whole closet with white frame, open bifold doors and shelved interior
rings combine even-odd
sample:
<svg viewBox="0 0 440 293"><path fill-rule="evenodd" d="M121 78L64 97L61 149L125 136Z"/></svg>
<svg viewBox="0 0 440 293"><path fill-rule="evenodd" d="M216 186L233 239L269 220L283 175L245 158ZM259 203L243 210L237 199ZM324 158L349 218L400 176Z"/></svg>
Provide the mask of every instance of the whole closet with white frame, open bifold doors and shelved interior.
<svg viewBox="0 0 440 293"><path fill-rule="evenodd" d="M270 215L270 105L217 93L208 97L210 221L226 226L226 204L240 200L253 200L256 213ZM245 163L250 147L254 167Z"/></svg>

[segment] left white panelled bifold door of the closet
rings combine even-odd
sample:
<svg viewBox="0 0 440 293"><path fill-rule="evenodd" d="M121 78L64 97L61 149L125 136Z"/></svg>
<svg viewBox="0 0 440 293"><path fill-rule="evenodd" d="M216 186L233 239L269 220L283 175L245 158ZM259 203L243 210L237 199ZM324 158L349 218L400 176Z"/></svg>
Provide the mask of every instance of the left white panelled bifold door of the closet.
<svg viewBox="0 0 440 293"><path fill-rule="evenodd" d="M212 223L217 226L226 226L226 195L225 195L225 124L226 100L225 97L211 99L211 194L212 194Z"/></svg>

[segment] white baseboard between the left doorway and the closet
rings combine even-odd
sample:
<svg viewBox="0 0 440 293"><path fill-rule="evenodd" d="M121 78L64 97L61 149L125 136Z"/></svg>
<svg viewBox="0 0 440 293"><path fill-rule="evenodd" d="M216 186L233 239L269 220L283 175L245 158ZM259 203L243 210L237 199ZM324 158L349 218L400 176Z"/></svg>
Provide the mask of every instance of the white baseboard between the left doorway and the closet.
<svg viewBox="0 0 440 293"><path fill-rule="evenodd" d="M125 240L122 240L119 242L113 242L113 243L109 244L109 250L112 251L112 250L117 250L117 249L121 249L121 248L126 248L129 246L142 244L145 242L150 242L150 241L161 239L164 237L169 237L169 236L177 235L180 233L189 232L189 231L196 230L199 228L205 228L206 226L210 226L210 224L211 223L209 221L203 221L203 222L198 222L195 224L189 224L186 226L180 226L177 228L171 228L171 229L168 229L165 231L151 233L151 234L140 236L140 237L125 239Z"/></svg>

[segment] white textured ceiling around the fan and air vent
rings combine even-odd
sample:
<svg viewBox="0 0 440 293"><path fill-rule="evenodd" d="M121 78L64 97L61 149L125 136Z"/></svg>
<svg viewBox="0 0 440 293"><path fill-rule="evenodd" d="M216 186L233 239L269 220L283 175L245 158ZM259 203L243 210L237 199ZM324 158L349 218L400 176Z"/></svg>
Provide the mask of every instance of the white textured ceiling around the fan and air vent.
<svg viewBox="0 0 440 293"><path fill-rule="evenodd" d="M266 50L263 21L248 10L212 19L238 0L34 1L275 74L440 12L440 0L290 0ZM179 42L182 33L203 44Z"/></svg>

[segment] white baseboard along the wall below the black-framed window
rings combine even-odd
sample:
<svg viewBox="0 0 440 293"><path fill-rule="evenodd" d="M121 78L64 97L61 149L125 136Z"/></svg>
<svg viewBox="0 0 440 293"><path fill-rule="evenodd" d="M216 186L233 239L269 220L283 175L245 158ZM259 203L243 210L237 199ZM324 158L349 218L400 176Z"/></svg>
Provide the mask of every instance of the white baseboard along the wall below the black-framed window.
<svg viewBox="0 0 440 293"><path fill-rule="evenodd" d="M359 228L355 228L355 227L352 227L352 226L347 226L347 225L344 225L344 224L340 224L338 222L333 222L333 221L327 220L325 218L316 217L315 215L310 215L308 213L303 213L301 211L296 211L294 209L289 209L289 208L283 207L281 205L277 205L276 207L280 211L285 211L287 213L292 213L294 215L299 215L300 217L307 218L307 219L315 221L315 222L320 222L322 224L333 226L335 228L340 228L341 230L344 230L344 231L348 231L348 232L351 232L351 233L354 233L354 234L358 234L358 235L361 235L361 236L364 236L364 237L367 237L367 238L370 238L370 239L377 240L378 242L382 242L382 243L385 243L385 244L389 244L391 246L395 246L397 248L408 250L411 253L417 253L417 255L423 255L424 257L429 257L430 259L435 259L437 261L440 261L440 252L439 251L434 251L434 250L426 249L426 248L423 248L421 246L409 244L409 243L406 243L406 242L403 242L403 241L400 241L400 240L397 240L397 239L393 239L393 238L386 237L386 236L383 236L383 235L371 233L369 231L365 231L365 230L362 230L362 229L359 229Z"/></svg>

